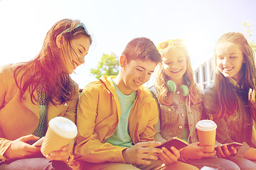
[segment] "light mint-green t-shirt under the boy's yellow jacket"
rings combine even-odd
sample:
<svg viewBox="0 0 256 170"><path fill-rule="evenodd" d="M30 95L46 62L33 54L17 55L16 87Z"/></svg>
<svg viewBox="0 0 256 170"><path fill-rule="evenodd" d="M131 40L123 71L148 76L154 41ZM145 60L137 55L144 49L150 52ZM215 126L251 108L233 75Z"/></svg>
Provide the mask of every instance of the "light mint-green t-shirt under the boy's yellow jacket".
<svg viewBox="0 0 256 170"><path fill-rule="evenodd" d="M128 130L128 118L129 118L129 113L132 109L134 100L136 98L136 91L133 91L132 94L125 95L125 94L122 94L121 91L119 91L115 83L114 83L114 88L117 91L117 96L118 96L120 108L121 108L121 116L120 116L119 123L117 125L117 130L115 130L114 134L111 137L107 138L105 142L108 142L112 145L117 145L119 147L132 147L133 143Z"/></svg>

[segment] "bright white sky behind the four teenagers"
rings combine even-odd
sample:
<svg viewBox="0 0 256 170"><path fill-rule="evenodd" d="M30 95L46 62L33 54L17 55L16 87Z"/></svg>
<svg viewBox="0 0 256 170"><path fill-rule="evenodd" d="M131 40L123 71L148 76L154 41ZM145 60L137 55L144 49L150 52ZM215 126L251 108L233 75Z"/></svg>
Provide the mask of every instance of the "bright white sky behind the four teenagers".
<svg viewBox="0 0 256 170"><path fill-rule="evenodd" d="M85 23L92 45L85 64L71 77L83 89L96 78L103 54L117 57L138 37L155 45L181 38L191 63L212 55L216 40L228 32L245 33L242 22L256 31L255 0L0 0L0 66L26 62L38 55L48 30L63 18Z"/></svg>

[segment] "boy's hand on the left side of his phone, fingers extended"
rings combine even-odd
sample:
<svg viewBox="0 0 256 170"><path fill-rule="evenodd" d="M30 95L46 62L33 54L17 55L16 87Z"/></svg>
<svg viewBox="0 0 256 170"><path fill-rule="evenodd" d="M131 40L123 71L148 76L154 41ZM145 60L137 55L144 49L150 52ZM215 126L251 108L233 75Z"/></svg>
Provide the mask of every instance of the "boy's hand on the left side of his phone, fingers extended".
<svg viewBox="0 0 256 170"><path fill-rule="evenodd" d="M122 151L124 162L134 165L151 164L150 160L158 159L158 157L156 157L154 154L163 152L159 148L154 148L160 145L160 142L139 142L130 148L124 149Z"/></svg>

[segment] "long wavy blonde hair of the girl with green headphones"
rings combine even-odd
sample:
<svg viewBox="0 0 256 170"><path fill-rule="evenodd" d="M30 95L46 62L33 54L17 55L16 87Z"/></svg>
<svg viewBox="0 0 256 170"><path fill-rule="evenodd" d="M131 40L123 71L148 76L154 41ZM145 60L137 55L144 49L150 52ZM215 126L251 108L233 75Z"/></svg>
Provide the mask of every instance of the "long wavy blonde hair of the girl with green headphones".
<svg viewBox="0 0 256 170"><path fill-rule="evenodd" d="M187 69L185 74L183 75L186 77L186 79L190 82L190 86L188 87L189 89L189 95L191 97L191 102L193 104L196 103L201 103L202 102L202 93L200 89L198 89L198 86L196 86L195 81L193 79L193 69L191 67L191 60L188 55L188 50L185 45L182 45L180 47L169 47L168 50L164 50L163 52L159 51L161 54L161 58L163 58L169 50L173 50L174 48L180 48L183 50L185 56L186 56L186 63L187 63ZM158 100L159 103L162 105L169 106L172 101L172 94L168 91L167 86L166 86L166 81L169 80L169 77L165 74L164 68L163 68L163 63L160 62L157 67L156 67L156 84L155 87L158 91Z"/></svg>

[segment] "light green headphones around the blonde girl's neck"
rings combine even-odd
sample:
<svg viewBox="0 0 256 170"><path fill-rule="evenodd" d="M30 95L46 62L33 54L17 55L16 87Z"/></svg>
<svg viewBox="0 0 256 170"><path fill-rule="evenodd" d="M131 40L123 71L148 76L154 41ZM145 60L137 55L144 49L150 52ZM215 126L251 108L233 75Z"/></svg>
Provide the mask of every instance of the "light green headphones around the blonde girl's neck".
<svg viewBox="0 0 256 170"><path fill-rule="evenodd" d="M181 92L182 96L185 97L185 96L188 96L189 94L188 86L190 85L190 82L188 81L188 79L186 79L186 77L183 77L183 79L186 81L186 85L182 84L181 86L179 86L179 91ZM172 93L176 92L177 90L177 86L172 80L166 81L166 86L168 91Z"/></svg>

